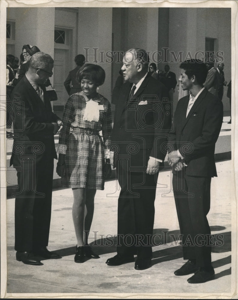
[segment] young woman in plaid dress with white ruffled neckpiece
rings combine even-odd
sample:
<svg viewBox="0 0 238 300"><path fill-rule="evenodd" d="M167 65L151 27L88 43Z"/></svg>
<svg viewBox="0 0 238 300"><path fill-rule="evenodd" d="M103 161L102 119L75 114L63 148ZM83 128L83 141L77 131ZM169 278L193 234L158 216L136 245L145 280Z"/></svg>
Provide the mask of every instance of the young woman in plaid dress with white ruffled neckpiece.
<svg viewBox="0 0 238 300"><path fill-rule="evenodd" d="M77 77L82 91L71 95L64 107L56 172L62 186L73 190L72 214L77 238L74 261L84 262L85 256L99 258L88 245L88 234L96 190L104 189L104 179L112 172L109 158L112 110L110 102L97 93L97 87L105 80L102 67L85 64Z"/></svg>

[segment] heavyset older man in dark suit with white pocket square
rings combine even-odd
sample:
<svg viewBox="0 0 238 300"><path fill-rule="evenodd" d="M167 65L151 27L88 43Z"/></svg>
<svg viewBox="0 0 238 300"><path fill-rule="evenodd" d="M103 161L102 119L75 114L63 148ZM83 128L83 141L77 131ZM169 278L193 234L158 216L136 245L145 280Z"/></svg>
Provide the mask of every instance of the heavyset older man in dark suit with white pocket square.
<svg viewBox="0 0 238 300"><path fill-rule="evenodd" d="M123 77L112 132L114 166L121 187L118 199L117 255L107 265L134 261L136 270L150 267L154 201L163 146L171 128L168 91L148 70L144 49L128 50L123 58Z"/></svg>

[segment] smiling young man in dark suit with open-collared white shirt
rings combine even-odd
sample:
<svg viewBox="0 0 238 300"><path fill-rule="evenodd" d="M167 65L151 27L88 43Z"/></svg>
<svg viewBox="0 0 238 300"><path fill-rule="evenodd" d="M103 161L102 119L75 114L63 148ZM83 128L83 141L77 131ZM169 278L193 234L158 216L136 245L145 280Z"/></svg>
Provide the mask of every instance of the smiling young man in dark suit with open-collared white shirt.
<svg viewBox="0 0 238 300"><path fill-rule="evenodd" d="M174 272L195 273L187 281L202 283L214 278L211 265L210 210L211 178L217 176L215 144L223 119L222 101L203 86L207 68L198 60L180 64L179 81L191 95L180 99L168 136L168 163L173 172L173 189L182 235L183 259L188 261Z"/></svg>

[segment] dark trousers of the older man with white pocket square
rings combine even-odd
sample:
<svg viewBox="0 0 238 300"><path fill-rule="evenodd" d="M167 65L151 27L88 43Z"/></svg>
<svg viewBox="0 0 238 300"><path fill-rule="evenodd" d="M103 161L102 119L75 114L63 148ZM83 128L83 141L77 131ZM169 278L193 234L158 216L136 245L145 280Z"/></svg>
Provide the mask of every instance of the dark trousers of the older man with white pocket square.
<svg viewBox="0 0 238 300"><path fill-rule="evenodd" d="M140 258L150 258L158 173L148 175L145 171L141 171L130 174L119 170L120 167L117 165L118 182L121 187L118 199L117 253L137 254ZM126 178L129 188L125 185ZM138 184L140 187L134 186Z"/></svg>

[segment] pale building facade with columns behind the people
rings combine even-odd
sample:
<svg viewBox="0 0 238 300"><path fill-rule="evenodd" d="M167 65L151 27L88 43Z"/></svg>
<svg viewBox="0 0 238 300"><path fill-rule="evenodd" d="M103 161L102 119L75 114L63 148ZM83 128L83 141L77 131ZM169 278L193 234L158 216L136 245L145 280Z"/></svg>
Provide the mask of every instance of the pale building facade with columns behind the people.
<svg viewBox="0 0 238 300"><path fill-rule="evenodd" d="M213 56L225 64L231 79L231 8L147 7L11 7L7 8L7 54L20 57L24 44L36 45L54 58L51 82L62 111L68 98L64 80L75 67L74 57L100 64L106 72L99 92L111 101L123 52L141 47L159 69L165 64L179 77L186 58ZM208 54L210 53L210 54ZM224 111L230 113L224 89ZM174 97L178 97L177 90ZM228 115L229 115L228 113Z"/></svg>

